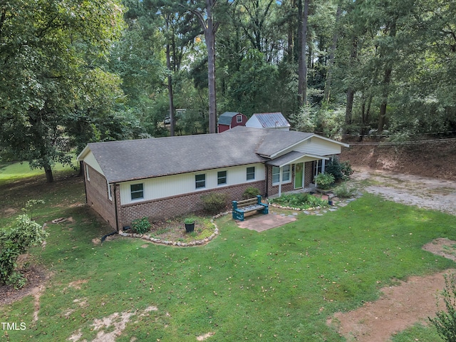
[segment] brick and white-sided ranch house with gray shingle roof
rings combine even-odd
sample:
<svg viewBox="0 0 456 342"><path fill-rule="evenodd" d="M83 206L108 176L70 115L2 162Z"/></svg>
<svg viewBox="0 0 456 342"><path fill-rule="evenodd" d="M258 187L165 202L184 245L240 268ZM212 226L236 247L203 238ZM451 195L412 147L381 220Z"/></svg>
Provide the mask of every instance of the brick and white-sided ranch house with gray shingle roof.
<svg viewBox="0 0 456 342"><path fill-rule="evenodd" d="M304 189L348 145L314 133L238 126L222 134L92 142L82 161L86 201L115 229L133 219L196 212L201 196L242 199Z"/></svg>

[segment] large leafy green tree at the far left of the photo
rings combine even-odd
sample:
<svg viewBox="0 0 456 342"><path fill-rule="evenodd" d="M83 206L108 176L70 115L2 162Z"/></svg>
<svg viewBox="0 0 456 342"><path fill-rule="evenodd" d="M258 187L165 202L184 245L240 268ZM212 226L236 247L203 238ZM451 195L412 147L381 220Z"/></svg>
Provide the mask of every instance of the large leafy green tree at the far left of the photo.
<svg viewBox="0 0 456 342"><path fill-rule="evenodd" d="M53 165L71 163L66 118L90 107L89 76L120 34L122 8L115 0L17 0L0 13L0 146L52 182Z"/></svg>

